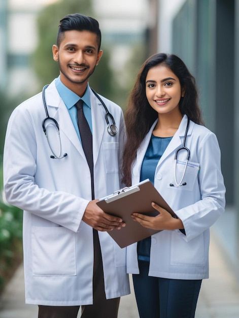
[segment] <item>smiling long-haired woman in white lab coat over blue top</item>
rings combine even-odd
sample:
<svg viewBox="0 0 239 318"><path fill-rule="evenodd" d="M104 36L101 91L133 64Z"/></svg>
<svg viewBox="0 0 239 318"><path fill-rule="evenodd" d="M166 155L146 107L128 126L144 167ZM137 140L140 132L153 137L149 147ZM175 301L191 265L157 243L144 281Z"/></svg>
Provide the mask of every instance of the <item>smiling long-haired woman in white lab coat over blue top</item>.
<svg viewBox="0 0 239 318"><path fill-rule="evenodd" d="M161 230L127 247L140 317L192 318L209 275L209 228L224 211L225 187L217 138L202 125L195 80L179 57L146 60L125 121L124 183L149 178L178 216L154 203L158 216L132 215ZM184 139L189 150L178 150Z"/></svg>

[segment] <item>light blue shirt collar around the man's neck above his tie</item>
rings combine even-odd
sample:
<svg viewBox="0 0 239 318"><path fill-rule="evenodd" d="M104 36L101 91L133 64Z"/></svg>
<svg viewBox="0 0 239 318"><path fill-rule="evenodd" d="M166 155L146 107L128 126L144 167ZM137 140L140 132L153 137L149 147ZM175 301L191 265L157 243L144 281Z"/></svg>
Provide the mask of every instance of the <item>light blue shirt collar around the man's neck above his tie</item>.
<svg viewBox="0 0 239 318"><path fill-rule="evenodd" d="M74 93L71 89L66 87L60 80L60 77L57 77L55 80L56 89L64 102L65 106L70 109L72 108L80 99L83 100L83 102L91 108L90 105L90 86L89 83L87 84L86 91L82 98L79 98L79 96Z"/></svg>

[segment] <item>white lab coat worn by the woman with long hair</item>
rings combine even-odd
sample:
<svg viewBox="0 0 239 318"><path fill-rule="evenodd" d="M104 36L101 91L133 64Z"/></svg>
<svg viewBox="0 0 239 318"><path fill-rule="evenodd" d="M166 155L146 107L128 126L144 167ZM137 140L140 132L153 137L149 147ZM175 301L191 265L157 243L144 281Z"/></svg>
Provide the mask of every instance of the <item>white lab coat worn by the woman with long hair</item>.
<svg viewBox="0 0 239 318"><path fill-rule="evenodd" d="M138 149L132 167L132 184L140 181L140 171L153 128ZM202 279L209 276L209 228L223 213L225 187L220 168L220 149L216 136L204 126L190 121L186 147L190 158L183 182L175 184L175 151L183 144L187 125L184 115L179 129L160 158L154 185L182 220L186 235L179 230L161 231L152 236L149 276L174 279ZM179 152L177 182L186 162L186 151ZM127 247L127 272L138 274L136 243Z"/></svg>

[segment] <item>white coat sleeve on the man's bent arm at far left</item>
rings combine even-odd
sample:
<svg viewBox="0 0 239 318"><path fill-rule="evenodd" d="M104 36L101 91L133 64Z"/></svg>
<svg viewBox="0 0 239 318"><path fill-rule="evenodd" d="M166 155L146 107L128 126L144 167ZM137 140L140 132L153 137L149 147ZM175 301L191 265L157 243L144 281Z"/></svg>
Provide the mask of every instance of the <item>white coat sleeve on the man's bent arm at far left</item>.
<svg viewBox="0 0 239 318"><path fill-rule="evenodd" d="M29 114L15 109L4 149L4 189L7 201L25 211L77 232L89 203L70 193L40 188L35 183L37 143Z"/></svg>

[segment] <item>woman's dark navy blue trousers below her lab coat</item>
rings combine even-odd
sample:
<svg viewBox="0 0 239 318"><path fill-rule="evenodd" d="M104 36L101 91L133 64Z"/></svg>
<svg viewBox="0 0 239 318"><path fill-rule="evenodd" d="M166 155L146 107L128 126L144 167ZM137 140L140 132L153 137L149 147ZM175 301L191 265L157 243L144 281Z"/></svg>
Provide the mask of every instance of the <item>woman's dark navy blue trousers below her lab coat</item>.
<svg viewBox="0 0 239 318"><path fill-rule="evenodd" d="M151 277L149 262L139 267L133 286L140 318L194 318L201 280Z"/></svg>

